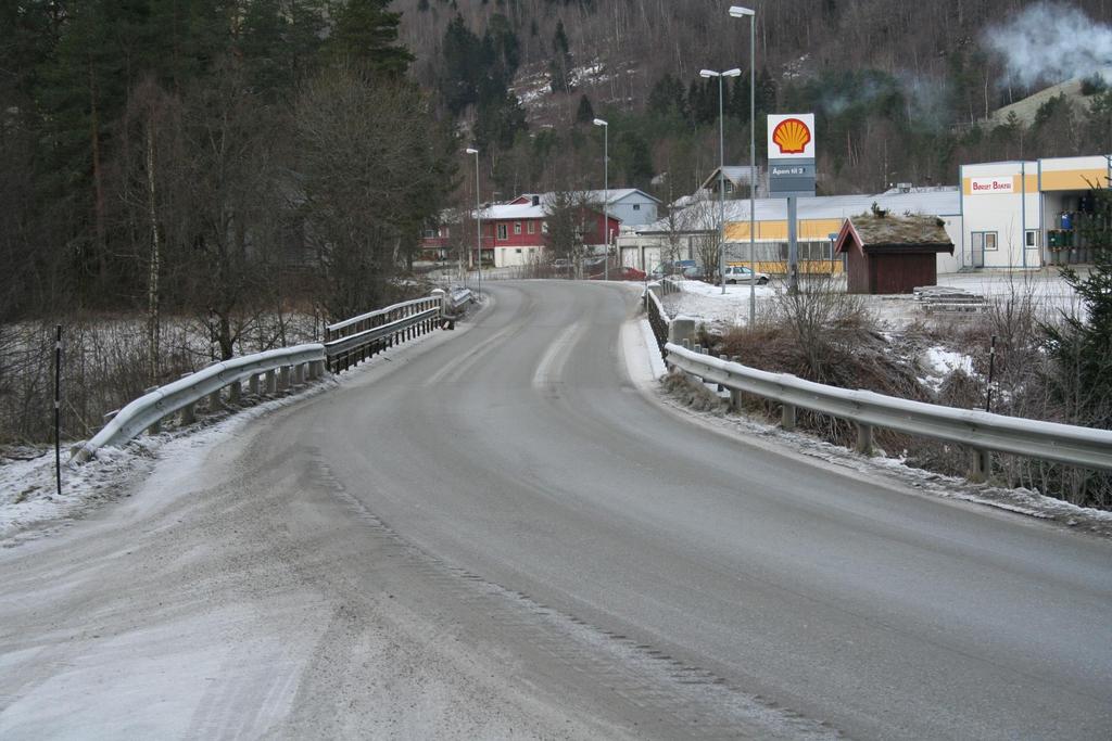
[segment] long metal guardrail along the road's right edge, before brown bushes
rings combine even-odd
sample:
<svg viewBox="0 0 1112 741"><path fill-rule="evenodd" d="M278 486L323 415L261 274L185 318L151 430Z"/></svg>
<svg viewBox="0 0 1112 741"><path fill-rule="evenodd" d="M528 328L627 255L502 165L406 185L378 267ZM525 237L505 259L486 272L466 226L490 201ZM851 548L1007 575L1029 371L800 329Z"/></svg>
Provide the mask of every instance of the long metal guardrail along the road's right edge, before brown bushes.
<svg viewBox="0 0 1112 741"><path fill-rule="evenodd" d="M729 389L735 407L738 392L778 401L783 405L784 429L795 427L795 410L801 407L853 421L857 427L857 450L862 452L872 450L873 427L880 427L970 447L974 452L971 478L977 480L991 472L993 451L1112 470L1110 430L941 407L872 391L851 391L788 373L748 368L671 342L666 350L665 360L669 366Z"/></svg>

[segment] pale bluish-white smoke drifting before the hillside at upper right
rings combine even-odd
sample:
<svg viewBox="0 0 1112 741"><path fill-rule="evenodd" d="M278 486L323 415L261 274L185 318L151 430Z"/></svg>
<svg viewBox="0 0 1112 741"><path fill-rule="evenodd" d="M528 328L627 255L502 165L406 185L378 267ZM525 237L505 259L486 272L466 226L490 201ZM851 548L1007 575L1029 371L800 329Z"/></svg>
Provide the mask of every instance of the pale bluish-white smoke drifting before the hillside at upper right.
<svg viewBox="0 0 1112 741"><path fill-rule="evenodd" d="M1091 76L1112 82L1112 27L1072 6L1031 6L1010 22L989 28L984 40L1004 58L1011 80L1025 87Z"/></svg>

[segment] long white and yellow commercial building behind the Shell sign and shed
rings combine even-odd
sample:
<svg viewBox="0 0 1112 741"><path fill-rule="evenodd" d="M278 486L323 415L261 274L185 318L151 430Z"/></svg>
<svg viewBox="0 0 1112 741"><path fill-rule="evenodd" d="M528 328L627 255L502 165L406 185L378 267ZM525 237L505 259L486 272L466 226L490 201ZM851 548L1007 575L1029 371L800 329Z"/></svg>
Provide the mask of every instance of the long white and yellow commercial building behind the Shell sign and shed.
<svg viewBox="0 0 1112 741"><path fill-rule="evenodd" d="M937 256L937 272L977 269L1039 269L1092 262L1082 229L1094 207L1092 189L1110 186L1112 156L1050 158L1016 162L963 164L957 187L903 184L883 193L820 196L798 200L797 236L801 272L840 272L833 239L845 220L867 213L873 203L895 216L935 216L943 222L954 253ZM785 199L755 202L755 261L767 273L786 271ZM645 224L618 238L622 261L651 270L678 244L682 259L697 257L691 247L698 234L676 234L667 220ZM726 259L749 258L749 201L726 201ZM689 252L689 254L687 253Z"/></svg>

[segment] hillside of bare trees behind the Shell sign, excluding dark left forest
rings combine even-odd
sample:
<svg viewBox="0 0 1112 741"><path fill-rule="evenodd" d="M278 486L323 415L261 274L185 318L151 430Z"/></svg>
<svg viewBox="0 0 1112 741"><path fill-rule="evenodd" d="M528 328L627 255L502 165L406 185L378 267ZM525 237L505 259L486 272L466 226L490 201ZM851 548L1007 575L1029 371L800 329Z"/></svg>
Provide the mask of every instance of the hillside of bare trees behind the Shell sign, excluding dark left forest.
<svg viewBox="0 0 1112 741"><path fill-rule="evenodd" d="M494 192L612 178L665 200L717 166L717 82L748 71L748 21L709 0L398 0L414 72L487 152ZM745 3L743 3L745 4ZM1112 58L1110 0L752 0L763 116L818 116L825 192L953 183L967 161L1112 151L1112 76L1033 123L996 109ZM1091 39L1088 37L1092 37ZM1019 40L1017 40L1019 39ZM1032 53L1022 56L1023 43ZM1101 62L1103 60L1103 62ZM748 74L726 90L726 159L748 158ZM507 92L509 94L507 94ZM667 177L659 177L666 173Z"/></svg>

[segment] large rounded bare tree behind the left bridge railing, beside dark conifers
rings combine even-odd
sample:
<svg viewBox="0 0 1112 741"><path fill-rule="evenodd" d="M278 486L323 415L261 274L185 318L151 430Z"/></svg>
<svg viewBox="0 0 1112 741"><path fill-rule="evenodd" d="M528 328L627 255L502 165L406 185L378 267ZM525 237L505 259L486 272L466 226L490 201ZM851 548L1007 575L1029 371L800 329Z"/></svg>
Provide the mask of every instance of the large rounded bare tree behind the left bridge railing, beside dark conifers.
<svg viewBox="0 0 1112 741"><path fill-rule="evenodd" d="M408 83L330 69L302 90L295 126L324 306L334 318L379 306L450 174L427 101Z"/></svg>

